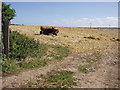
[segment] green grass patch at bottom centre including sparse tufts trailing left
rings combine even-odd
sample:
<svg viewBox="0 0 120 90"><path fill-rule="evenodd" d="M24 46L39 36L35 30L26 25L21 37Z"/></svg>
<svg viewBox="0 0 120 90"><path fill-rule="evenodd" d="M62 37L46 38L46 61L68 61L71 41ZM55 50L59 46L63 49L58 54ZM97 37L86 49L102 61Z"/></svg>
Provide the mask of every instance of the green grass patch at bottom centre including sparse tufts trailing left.
<svg viewBox="0 0 120 90"><path fill-rule="evenodd" d="M73 85L76 85L75 78L73 78L73 72L71 71L51 71L47 73L46 76L39 76L43 78L44 81L42 82L42 86L39 86L41 82L38 80L37 82L28 82L23 87L39 87L39 88L68 88ZM31 85L32 83L32 85Z"/></svg>

